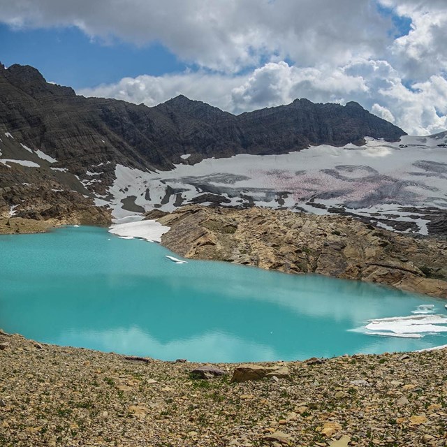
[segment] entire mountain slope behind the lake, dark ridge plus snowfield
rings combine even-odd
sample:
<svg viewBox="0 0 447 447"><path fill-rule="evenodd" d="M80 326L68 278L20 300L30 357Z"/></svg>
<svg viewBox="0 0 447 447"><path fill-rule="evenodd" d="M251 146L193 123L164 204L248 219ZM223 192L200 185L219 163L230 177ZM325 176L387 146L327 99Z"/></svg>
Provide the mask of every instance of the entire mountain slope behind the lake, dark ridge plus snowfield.
<svg viewBox="0 0 447 447"><path fill-rule="evenodd" d="M235 116L177 96L148 108L0 66L0 218L258 205L446 235L447 133L403 135L352 102Z"/></svg>

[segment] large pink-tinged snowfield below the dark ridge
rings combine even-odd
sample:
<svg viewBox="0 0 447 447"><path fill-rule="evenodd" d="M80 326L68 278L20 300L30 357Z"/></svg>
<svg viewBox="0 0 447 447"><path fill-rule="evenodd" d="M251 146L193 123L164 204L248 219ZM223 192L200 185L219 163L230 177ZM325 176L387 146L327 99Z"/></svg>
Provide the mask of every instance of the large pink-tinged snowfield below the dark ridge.
<svg viewBox="0 0 447 447"><path fill-rule="evenodd" d="M437 146L435 137L404 137L395 143L366 140L362 147L321 145L283 155L239 154L195 165L179 163L170 171L145 172L117 165L115 182L108 190L113 196L112 214L133 214L122 203L130 196L145 210L161 205L161 210L173 211L210 193L224 198L222 205L228 206L254 203L314 214L344 207L353 214L383 220L379 223L383 228L392 228L387 220L404 221L427 234L427 213L404 208L447 209L445 148Z"/></svg>

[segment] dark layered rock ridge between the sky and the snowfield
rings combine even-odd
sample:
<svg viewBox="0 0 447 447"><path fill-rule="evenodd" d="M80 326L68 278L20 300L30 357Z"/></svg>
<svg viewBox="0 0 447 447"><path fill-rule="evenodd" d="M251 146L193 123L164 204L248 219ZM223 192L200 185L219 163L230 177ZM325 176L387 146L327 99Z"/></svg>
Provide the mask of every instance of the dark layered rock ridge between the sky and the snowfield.
<svg viewBox="0 0 447 447"><path fill-rule="evenodd" d="M73 173L105 161L170 168L234 154L281 154L309 145L346 145L365 136L397 140L404 131L357 103L290 105L239 116L177 96L156 107L76 96L36 68L0 64L0 132L64 162Z"/></svg>

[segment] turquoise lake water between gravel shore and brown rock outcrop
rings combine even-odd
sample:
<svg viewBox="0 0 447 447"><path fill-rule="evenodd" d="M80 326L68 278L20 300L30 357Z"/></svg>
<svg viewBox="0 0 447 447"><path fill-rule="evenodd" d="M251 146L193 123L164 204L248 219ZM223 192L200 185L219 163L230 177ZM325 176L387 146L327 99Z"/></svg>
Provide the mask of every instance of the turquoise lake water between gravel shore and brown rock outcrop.
<svg viewBox="0 0 447 447"><path fill-rule="evenodd" d="M170 251L106 230L0 237L0 328L41 342L163 360L302 360L447 344L367 335L369 318L445 302L357 281L229 263L175 264Z"/></svg>

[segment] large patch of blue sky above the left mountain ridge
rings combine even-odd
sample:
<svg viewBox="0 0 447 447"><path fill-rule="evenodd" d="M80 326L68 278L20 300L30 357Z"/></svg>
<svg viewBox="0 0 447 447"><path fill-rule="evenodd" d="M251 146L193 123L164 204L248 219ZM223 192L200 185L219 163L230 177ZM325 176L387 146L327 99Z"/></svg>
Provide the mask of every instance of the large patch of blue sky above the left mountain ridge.
<svg viewBox="0 0 447 447"><path fill-rule="evenodd" d="M105 44L76 27L13 29L0 24L0 42L2 64L34 66L45 79L75 89L186 68L160 43L138 46L115 39Z"/></svg>

